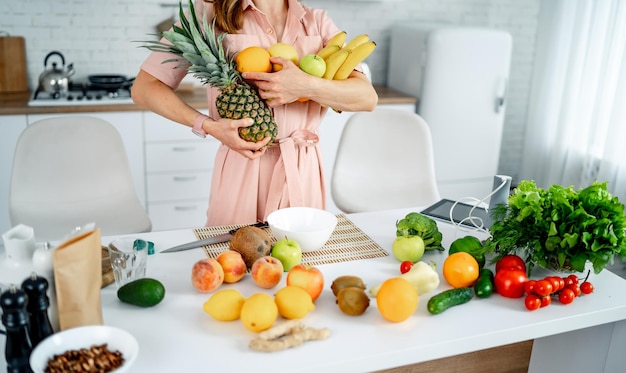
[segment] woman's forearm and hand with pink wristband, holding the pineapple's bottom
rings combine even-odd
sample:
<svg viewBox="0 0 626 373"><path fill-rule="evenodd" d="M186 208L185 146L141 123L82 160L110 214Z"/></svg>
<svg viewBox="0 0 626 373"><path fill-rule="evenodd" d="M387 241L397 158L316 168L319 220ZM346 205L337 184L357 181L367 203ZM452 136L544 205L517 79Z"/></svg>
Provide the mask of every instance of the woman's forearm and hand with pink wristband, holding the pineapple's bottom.
<svg viewBox="0 0 626 373"><path fill-rule="evenodd" d="M172 121L193 127L200 115L196 109L183 101L174 90L147 72L140 70L131 89L133 101L147 109ZM259 142L244 141L239 137L239 127L251 125L252 119L205 119L202 123L204 131L238 152L244 157L254 159L265 152L269 137Z"/></svg>

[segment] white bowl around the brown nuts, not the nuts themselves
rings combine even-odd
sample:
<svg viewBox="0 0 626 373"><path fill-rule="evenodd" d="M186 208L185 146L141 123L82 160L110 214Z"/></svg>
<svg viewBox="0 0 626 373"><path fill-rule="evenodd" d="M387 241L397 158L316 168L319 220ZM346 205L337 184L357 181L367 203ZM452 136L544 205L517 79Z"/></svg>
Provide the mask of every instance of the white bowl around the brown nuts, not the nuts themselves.
<svg viewBox="0 0 626 373"><path fill-rule="evenodd" d="M139 344L129 332L106 325L80 326L54 333L35 347L30 355L30 367L35 373L43 373L54 355L69 350L89 349L92 345L107 344L110 351L119 351L124 363L114 370L115 373L130 371L137 355Z"/></svg>

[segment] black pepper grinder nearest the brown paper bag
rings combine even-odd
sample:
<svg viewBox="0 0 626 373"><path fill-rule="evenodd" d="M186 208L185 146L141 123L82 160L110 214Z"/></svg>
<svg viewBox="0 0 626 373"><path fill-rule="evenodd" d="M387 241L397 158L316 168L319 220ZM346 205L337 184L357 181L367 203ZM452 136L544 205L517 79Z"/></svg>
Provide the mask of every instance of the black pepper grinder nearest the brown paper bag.
<svg viewBox="0 0 626 373"><path fill-rule="evenodd" d="M54 333L48 318L48 307L50 306L50 299L46 294L48 291L48 280L45 277L37 276L33 272L30 277L22 282L22 290L28 296L28 304L26 305L28 334L30 342L33 348L35 348L39 342Z"/></svg>

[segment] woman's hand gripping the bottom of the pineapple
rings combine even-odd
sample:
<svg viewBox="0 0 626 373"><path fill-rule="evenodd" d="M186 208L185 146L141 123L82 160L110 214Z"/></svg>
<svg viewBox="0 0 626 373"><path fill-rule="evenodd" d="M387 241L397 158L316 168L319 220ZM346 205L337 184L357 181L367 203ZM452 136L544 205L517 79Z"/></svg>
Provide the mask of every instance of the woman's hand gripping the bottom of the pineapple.
<svg viewBox="0 0 626 373"><path fill-rule="evenodd" d="M250 118L231 120L231 119L219 119L208 126L205 129L211 136L215 137L222 144L226 145L230 149L243 155L248 159L256 159L262 156L267 149L267 143L270 141L270 137L266 137L258 142L245 141L239 137L239 128L248 127L254 122Z"/></svg>

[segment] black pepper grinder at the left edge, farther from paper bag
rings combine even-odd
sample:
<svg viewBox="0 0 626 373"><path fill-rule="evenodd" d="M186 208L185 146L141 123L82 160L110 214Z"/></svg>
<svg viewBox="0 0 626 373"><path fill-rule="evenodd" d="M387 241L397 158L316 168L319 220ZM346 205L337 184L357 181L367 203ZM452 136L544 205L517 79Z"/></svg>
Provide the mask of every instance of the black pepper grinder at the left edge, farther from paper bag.
<svg viewBox="0 0 626 373"><path fill-rule="evenodd" d="M7 373L32 373L29 359L32 347L28 336L26 293L12 285L0 295L2 324L6 329L5 357Z"/></svg>

